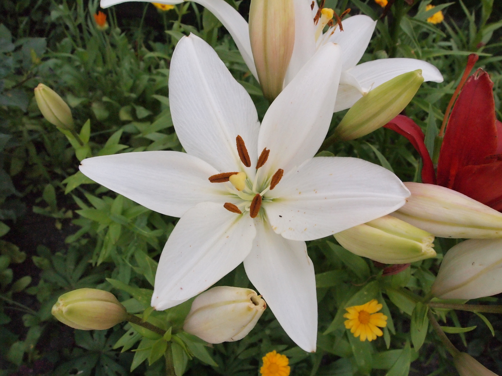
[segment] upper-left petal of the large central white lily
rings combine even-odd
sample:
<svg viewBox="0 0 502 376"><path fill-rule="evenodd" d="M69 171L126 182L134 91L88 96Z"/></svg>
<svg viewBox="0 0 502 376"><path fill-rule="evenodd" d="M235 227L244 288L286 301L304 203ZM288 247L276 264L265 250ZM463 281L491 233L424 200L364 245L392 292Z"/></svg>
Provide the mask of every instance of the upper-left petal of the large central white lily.
<svg viewBox="0 0 502 376"><path fill-rule="evenodd" d="M171 60L169 99L176 134L185 148L221 172L244 168L237 154L240 135L254 174L260 123L253 100L216 52L199 37L183 37Z"/></svg>

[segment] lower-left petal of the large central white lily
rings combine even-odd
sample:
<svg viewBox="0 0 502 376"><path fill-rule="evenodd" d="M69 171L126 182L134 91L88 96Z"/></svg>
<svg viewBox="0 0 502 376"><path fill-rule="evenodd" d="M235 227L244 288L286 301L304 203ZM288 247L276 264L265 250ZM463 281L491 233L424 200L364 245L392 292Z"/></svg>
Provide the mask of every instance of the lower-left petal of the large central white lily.
<svg viewBox="0 0 502 376"><path fill-rule="evenodd" d="M255 236L252 218L222 204L200 203L188 210L160 256L152 306L161 311L207 289L244 260Z"/></svg>

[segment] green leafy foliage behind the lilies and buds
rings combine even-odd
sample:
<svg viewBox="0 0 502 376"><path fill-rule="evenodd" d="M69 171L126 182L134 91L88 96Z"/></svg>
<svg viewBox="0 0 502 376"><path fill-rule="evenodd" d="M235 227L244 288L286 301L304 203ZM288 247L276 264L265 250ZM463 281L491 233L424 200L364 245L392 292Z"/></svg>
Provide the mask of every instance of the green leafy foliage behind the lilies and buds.
<svg viewBox="0 0 502 376"><path fill-rule="evenodd" d="M247 17L249 0L227 2ZM410 57L439 68L445 81L423 84L405 110L426 131L432 150L443 111L470 52L480 54L475 68L482 67L491 75L497 115L502 118L502 5L495 1L490 9L489 0L435 1L437 9L444 7L445 22L433 26L425 22L424 9L430 2L415 3L400 23L392 13L379 22L362 61ZM327 0L326 6L337 12L350 7L351 15L361 12L373 19L382 14L372 0ZM162 360L148 365L146 357L138 356L141 351L113 348L128 330L136 335L129 324L86 332L69 328L50 314L59 295L80 287L111 291L130 312L142 312L147 307L142 298L152 289L156 260L177 220L92 184L76 173L78 159L116 152L181 151L172 127L167 84L173 48L190 32L215 48L252 96L260 117L268 107L228 33L202 7L184 3L176 10L159 12L148 3L121 4L105 10L110 27L104 32L96 29L92 18L97 10L94 0L0 2L2 375L163 372ZM84 126L81 133L88 142L76 155L36 106L33 88L40 82L69 103L77 129L90 119L90 128ZM343 114L334 114L333 127ZM418 154L405 138L388 129L335 144L329 152L382 164L404 181L420 181ZM406 375L408 370L411 375L456 374L434 333L427 335L419 352L410 345L413 296L428 292L443 253L455 244L455 240L437 239L436 259L414 263L396 276L381 277L370 260L344 250L334 238L310 242L309 255L318 273L316 353L295 346L267 310L244 339L206 348L213 365L208 365L210 359L187 362L180 353L177 371L182 373L185 367L189 375L257 374L261 357L276 349L290 357L294 375L393 376ZM217 284L252 287L242 265ZM389 324L385 338L360 343L346 335L340 315L344 306L372 297L385 298L384 309L393 325ZM476 300L501 304L497 296ZM179 329L187 307L153 315ZM476 326L450 338L500 374L502 321L496 315L486 317L494 336L473 313L444 313L445 325ZM132 362L136 368L130 370Z"/></svg>

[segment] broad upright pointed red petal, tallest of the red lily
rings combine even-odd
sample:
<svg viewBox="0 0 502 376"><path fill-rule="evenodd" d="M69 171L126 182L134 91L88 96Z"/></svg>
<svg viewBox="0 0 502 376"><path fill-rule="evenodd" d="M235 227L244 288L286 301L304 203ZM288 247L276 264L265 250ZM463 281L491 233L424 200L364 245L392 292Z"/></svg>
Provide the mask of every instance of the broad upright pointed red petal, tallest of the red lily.
<svg viewBox="0 0 502 376"><path fill-rule="evenodd" d="M486 163L486 157L496 153L492 86L488 73L478 69L460 91L439 153L439 185L454 189L455 175L462 167ZM474 186L477 189L479 183Z"/></svg>

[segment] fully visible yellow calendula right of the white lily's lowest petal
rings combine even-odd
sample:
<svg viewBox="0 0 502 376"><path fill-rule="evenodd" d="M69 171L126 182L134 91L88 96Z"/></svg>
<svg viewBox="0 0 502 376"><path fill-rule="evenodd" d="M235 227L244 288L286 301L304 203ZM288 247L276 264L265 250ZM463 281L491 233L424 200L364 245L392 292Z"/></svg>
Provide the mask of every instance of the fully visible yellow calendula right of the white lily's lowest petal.
<svg viewBox="0 0 502 376"><path fill-rule="evenodd" d="M345 320L345 328L350 329L354 337L359 337L361 341L372 341L376 336L382 336L384 333L380 330L387 326L387 316L381 312L383 305L378 300L373 299L363 305L354 305L353 307L345 308L347 313L343 317ZM378 313L375 313L378 312Z"/></svg>

